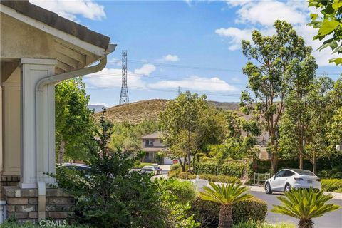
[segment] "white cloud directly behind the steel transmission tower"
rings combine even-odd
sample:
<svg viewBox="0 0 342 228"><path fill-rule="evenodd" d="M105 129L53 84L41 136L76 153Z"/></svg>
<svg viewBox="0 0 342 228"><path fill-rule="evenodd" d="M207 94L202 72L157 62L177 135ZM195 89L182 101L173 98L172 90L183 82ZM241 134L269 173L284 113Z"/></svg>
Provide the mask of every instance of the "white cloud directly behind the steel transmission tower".
<svg viewBox="0 0 342 228"><path fill-rule="evenodd" d="M121 69L116 68L104 68L98 73L90 74L89 76L84 76L87 86L90 88L94 87L118 87L120 88L122 78ZM145 88L145 83L141 80L142 76L136 75L135 73L127 72L127 85Z"/></svg>

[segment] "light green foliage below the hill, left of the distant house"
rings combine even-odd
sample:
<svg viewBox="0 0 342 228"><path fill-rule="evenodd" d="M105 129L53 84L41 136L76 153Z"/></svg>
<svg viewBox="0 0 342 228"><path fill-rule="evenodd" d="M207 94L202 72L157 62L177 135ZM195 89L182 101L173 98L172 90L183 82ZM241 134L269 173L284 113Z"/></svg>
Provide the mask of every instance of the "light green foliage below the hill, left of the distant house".
<svg viewBox="0 0 342 228"><path fill-rule="evenodd" d="M109 147L112 150L133 152L141 147L140 137L160 130L156 120L143 120L140 123L114 123Z"/></svg>

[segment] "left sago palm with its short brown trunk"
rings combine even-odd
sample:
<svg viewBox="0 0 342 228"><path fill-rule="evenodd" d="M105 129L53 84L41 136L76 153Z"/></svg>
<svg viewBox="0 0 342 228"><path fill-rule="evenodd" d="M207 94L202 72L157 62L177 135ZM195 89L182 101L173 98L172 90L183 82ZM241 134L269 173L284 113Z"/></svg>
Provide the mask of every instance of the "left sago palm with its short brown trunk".
<svg viewBox="0 0 342 228"><path fill-rule="evenodd" d="M248 187L242 187L241 184L217 185L213 182L209 182L209 185L210 187L204 187L204 192L199 192L199 196L204 200L221 204L219 207L219 228L231 228L233 223L232 204L252 197L252 195L245 193Z"/></svg>

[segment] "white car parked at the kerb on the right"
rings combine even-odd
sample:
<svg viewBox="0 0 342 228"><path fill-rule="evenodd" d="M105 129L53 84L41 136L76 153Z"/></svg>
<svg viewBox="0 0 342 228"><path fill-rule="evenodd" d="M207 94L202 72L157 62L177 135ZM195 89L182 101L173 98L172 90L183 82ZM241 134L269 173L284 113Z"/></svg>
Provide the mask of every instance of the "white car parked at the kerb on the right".
<svg viewBox="0 0 342 228"><path fill-rule="evenodd" d="M265 192L288 192L291 188L316 188L321 190L321 180L309 170L284 169L265 182Z"/></svg>

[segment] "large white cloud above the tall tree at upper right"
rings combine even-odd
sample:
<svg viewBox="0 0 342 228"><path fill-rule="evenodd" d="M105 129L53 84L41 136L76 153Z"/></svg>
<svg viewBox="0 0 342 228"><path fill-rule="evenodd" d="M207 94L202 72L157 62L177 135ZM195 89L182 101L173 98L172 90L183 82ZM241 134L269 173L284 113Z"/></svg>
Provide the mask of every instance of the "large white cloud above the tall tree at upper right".
<svg viewBox="0 0 342 228"><path fill-rule="evenodd" d="M252 31L258 28L264 36L271 36L275 33L272 27L277 19L291 23L300 36L303 36L306 45L313 47L313 56L319 66L334 66L328 60L336 58L331 54L331 49L316 51L321 46L322 41L313 41L317 30L306 24L309 22L309 13L316 12L315 9L308 9L306 1L237 1L227 0L231 7L237 7L237 24L243 24L245 28L218 28L217 35L229 38L230 51L238 50L242 47L242 40L252 40ZM251 28L252 25L252 28Z"/></svg>

